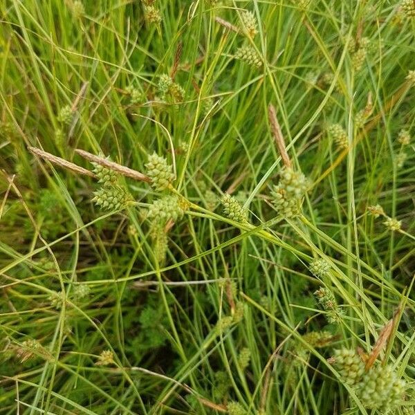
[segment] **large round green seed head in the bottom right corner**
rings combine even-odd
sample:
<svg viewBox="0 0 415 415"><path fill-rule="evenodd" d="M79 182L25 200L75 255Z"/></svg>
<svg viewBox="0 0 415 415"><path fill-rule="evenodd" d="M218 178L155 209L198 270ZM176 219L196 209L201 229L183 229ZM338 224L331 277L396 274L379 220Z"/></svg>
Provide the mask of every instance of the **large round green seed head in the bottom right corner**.
<svg viewBox="0 0 415 415"><path fill-rule="evenodd" d="M356 385L356 395L369 409L387 411L403 401L405 380L399 379L390 367L371 367Z"/></svg>

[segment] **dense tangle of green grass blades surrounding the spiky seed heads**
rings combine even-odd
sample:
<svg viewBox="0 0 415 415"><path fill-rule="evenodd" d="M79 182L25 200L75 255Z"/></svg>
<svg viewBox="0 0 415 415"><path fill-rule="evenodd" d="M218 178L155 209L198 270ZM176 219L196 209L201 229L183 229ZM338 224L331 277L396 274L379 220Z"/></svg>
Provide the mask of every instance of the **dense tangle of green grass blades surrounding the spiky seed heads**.
<svg viewBox="0 0 415 415"><path fill-rule="evenodd" d="M414 18L396 1L158 0L152 24L138 0L75 3L0 3L0 413L220 414L237 402L247 414L369 414L327 359L369 352L396 310L380 356L407 380L395 413L414 413L415 156L398 142L415 131ZM254 39L215 20L240 27L243 9L259 22ZM349 46L362 37L357 71ZM242 45L261 67L234 59ZM185 99L161 102L158 79L175 67ZM312 183L293 219L270 203L282 160L269 104ZM139 172L154 151L174 162L173 185L194 205L169 230L165 263L145 216L158 192L126 179L137 204L102 212L93 178L28 146L87 169L75 149ZM212 195L226 190L250 223L223 216ZM367 214L376 204L400 231ZM331 265L322 279L308 269L319 257Z"/></svg>

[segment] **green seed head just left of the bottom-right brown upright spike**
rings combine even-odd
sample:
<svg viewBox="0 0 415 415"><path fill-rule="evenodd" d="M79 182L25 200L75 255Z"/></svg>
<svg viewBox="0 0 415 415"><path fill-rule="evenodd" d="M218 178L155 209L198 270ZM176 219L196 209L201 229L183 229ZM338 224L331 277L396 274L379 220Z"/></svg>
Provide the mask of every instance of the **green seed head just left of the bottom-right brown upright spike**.
<svg viewBox="0 0 415 415"><path fill-rule="evenodd" d="M342 381L349 386L357 385L365 374L365 363L362 362L356 351L349 349L335 350L331 362L342 376Z"/></svg>

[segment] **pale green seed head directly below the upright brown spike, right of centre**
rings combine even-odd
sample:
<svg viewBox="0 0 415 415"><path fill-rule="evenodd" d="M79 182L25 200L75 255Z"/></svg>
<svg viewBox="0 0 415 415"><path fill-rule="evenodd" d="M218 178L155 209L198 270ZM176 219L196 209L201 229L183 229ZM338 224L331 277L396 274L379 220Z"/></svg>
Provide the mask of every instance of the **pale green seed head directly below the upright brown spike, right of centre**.
<svg viewBox="0 0 415 415"><path fill-rule="evenodd" d="M308 180L302 172L284 167L279 183L273 187L273 205L282 216L290 218L301 212L302 200L308 189Z"/></svg>

